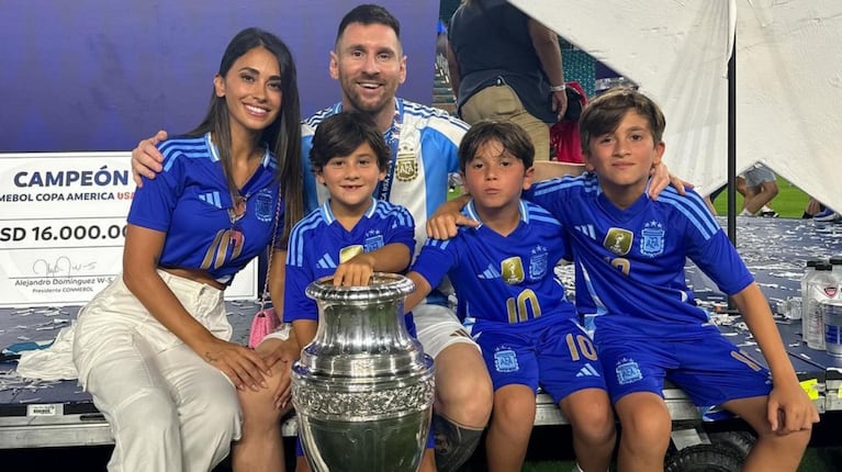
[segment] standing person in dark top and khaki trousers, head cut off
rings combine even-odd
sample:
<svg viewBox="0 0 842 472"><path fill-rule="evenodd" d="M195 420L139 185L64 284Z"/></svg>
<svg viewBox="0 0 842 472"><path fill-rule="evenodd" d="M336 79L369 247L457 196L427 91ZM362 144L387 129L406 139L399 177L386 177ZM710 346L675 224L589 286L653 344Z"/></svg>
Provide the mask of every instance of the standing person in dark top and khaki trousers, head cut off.
<svg viewBox="0 0 842 472"><path fill-rule="evenodd" d="M463 0L450 19L448 65L459 115L508 120L550 159L550 126L568 108L558 35L505 0Z"/></svg>

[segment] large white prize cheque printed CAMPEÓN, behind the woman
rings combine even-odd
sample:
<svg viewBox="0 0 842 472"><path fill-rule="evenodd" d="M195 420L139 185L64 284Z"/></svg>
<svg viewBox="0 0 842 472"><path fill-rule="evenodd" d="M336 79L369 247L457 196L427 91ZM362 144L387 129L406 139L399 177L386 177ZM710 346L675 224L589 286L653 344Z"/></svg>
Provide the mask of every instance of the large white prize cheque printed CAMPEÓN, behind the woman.
<svg viewBox="0 0 842 472"><path fill-rule="evenodd" d="M128 153L0 154L0 306L80 305L123 270ZM225 291L257 296L257 261Z"/></svg>

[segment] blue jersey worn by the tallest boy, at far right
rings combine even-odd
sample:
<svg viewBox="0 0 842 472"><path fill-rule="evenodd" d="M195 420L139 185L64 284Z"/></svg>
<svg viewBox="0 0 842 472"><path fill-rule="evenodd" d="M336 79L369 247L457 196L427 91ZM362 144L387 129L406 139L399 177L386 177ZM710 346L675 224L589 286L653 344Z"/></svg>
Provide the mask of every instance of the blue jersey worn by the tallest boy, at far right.
<svg viewBox="0 0 842 472"><path fill-rule="evenodd" d="M602 193L594 173L540 182L525 198L550 211L568 229L576 262L576 307L618 336L654 339L705 336L707 313L687 288L693 260L725 293L753 282L728 236L693 191L643 194L620 210ZM609 315L609 316L603 316ZM689 329L682 329L686 326ZM621 334L621 335L620 335Z"/></svg>

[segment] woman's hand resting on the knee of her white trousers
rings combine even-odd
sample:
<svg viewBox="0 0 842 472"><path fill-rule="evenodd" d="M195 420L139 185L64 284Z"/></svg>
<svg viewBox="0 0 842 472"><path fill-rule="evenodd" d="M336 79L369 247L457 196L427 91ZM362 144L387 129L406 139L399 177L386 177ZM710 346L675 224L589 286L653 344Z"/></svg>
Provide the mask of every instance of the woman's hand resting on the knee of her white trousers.
<svg viewBox="0 0 842 472"><path fill-rule="evenodd" d="M263 374L269 372L269 366L251 349L213 338L202 344L197 352L205 362L227 375L237 390L251 389L257 392L260 387L267 387Z"/></svg>

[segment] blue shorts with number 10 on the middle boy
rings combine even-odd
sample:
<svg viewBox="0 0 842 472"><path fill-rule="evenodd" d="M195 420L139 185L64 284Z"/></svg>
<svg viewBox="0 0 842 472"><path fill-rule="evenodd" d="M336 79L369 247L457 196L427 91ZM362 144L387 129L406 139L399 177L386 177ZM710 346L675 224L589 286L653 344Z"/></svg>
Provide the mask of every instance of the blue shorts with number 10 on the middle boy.
<svg viewBox="0 0 842 472"><path fill-rule="evenodd" d="M509 325L478 319L471 331L482 349L494 390L510 384L540 386L561 402L583 389L605 390L596 350L571 318L537 318Z"/></svg>

